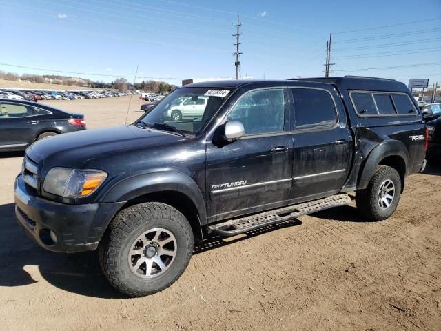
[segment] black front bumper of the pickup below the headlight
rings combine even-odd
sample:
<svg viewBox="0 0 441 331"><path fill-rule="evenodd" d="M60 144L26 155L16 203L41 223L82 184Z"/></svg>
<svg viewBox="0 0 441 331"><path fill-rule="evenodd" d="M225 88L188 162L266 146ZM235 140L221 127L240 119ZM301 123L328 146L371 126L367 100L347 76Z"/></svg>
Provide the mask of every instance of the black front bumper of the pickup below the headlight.
<svg viewBox="0 0 441 331"><path fill-rule="evenodd" d="M125 202L68 205L36 197L21 174L14 184L15 216L41 247L52 252L95 250L107 225Z"/></svg>

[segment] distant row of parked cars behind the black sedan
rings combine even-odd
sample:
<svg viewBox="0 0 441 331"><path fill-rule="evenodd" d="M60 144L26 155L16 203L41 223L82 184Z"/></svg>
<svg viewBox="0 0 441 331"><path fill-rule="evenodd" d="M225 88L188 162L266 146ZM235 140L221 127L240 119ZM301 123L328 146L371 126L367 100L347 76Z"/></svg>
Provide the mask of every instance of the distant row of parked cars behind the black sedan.
<svg viewBox="0 0 441 331"><path fill-rule="evenodd" d="M1 99L15 100L74 100L74 99L99 99L106 97L122 97L130 93L114 91L48 91L48 90L0 90Z"/></svg>

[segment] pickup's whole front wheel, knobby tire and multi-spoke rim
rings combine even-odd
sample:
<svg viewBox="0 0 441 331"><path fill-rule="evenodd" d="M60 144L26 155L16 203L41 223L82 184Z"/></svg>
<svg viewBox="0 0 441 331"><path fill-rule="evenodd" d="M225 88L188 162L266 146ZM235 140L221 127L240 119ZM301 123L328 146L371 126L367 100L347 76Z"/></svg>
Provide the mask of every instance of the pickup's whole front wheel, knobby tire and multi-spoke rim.
<svg viewBox="0 0 441 331"><path fill-rule="evenodd" d="M193 252L187 219L164 203L141 203L119 212L99 245L107 280L130 297L169 287L187 268Z"/></svg>

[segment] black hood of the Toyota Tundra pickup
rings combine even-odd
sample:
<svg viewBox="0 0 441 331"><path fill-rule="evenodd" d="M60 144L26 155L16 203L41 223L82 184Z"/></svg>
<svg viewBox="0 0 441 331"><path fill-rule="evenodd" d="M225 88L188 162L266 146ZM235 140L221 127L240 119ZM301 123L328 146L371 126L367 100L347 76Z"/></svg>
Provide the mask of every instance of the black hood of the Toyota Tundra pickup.
<svg viewBox="0 0 441 331"><path fill-rule="evenodd" d="M188 138L168 132L139 128L137 126L117 126L96 130L84 130L60 134L33 143L26 154L43 166L65 166L81 168L103 154L109 156L121 150L158 148L177 143Z"/></svg>

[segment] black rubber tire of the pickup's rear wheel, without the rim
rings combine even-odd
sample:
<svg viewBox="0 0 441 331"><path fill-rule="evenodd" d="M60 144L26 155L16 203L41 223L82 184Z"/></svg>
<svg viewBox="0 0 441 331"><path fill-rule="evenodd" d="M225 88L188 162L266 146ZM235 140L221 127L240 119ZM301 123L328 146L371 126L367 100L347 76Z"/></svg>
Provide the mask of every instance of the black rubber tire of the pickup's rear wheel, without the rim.
<svg viewBox="0 0 441 331"><path fill-rule="evenodd" d="M387 209L381 209L378 204L380 185L389 179L395 186L393 200ZM356 192L356 206L363 217L371 221L382 221L395 212L401 195L401 179L397 170L387 165L377 165L367 188Z"/></svg>

